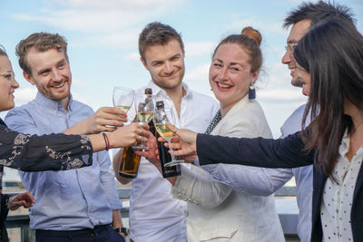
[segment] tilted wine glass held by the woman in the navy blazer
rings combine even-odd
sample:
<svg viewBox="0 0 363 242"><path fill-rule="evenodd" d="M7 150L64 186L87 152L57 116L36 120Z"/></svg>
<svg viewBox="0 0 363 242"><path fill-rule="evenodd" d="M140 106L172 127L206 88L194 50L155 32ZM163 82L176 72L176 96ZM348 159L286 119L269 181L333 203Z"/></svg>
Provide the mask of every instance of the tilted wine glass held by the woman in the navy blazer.
<svg viewBox="0 0 363 242"><path fill-rule="evenodd" d="M172 124L176 123L176 118L174 112L170 108L160 109L153 112L153 124L155 125L156 131L162 135L162 138L168 141L169 150L172 151L172 131L166 125L167 122ZM172 161L165 163L165 167L175 166L177 164L183 163L184 160L176 160L174 154L171 152Z"/></svg>

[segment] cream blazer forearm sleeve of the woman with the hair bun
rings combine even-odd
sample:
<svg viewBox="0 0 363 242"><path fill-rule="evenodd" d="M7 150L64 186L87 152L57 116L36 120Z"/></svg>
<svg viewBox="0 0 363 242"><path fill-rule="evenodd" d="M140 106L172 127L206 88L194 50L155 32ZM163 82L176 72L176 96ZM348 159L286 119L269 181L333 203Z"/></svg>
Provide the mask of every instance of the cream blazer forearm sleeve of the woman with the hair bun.
<svg viewBox="0 0 363 242"><path fill-rule="evenodd" d="M172 196L200 205L202 208L216 208L230 194L231 187L213 179L206 170L196 166L182 168L172 188Z"/></svg>

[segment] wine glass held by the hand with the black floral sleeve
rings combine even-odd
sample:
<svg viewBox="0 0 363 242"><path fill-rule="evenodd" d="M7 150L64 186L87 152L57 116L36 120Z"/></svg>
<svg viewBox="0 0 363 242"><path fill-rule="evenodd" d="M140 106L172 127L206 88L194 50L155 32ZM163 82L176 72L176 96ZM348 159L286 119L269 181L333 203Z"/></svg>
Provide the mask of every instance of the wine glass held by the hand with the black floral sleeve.
<svg viewBox="0 0 363 242"><path fill-rule="evenodd" d="M137 121L149 123L152 121L153 111L155 110L155 96L152 94L136 93L135 94L135 111ZM143 142L132 146L133 150L151 150Z"/></svg>

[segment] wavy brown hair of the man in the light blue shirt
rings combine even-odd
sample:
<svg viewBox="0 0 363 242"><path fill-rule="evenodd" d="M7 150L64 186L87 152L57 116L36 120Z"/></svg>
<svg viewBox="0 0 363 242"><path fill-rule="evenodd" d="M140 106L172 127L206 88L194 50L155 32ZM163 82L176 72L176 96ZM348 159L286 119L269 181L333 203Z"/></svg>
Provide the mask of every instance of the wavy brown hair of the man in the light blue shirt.
<svg viewBox="0 0 363 242"><path fill-rule="evenodd" d="M16 45L16 55L19 57L19 65L27 74L32 73L26 61L26 54L33 47L39 52L46 52L51 49L64 52L65 58L68 60L67 41L64 36L44 32L30 34L26 39Z"/></svg>

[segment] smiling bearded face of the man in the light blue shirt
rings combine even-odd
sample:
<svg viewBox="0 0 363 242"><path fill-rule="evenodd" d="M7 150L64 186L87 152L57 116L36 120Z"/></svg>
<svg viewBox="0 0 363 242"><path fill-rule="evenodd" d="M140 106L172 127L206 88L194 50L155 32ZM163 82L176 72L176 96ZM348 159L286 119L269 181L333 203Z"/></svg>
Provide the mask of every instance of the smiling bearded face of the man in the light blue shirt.
<svg viewBox="0 0 363 242"><path fill-rule="evenodd" d="M63 103L65 108L69 102L72 74L64 52L55 49L39 52L31 48L26 61L31 74L24 73L25 79L36 85L45 97Z"/></svg>

